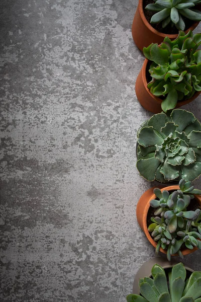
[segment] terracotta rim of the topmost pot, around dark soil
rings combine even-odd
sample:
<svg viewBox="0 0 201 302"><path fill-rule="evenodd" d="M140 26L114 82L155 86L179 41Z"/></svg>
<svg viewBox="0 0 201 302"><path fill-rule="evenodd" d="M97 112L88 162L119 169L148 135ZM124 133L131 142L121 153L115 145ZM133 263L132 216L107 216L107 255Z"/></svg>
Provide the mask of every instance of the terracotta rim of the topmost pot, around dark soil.
<svg viewBox="0 0 201 302"><path fill-rule="evenodd" d="M178 34L163 34L159 31L157 31L156 29L154 29L149 22L147 21L145 15L144 15L144 11L143 11L143 0L139 0L139 4L138 4L138 8L139 8L139 13L140 16L145 24L145 26L155 35L160 36L162 39L164 39L165 37L169 37L170 39L174 39L178 36ZM185 32L188 32L189 30L193 30L195 29L195 27L199 24L199 22L194 22Z"/></svg>

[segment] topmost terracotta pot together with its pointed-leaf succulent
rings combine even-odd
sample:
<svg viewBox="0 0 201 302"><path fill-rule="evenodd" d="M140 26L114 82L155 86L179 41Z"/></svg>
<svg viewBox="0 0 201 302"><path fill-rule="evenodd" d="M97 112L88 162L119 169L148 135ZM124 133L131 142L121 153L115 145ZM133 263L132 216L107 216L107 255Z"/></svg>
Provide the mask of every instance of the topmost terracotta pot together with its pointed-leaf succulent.
<svg viewBox="0 0 201 302"><path fill-rule="evenodd" d="M200 15L199 11L197 12L197 10L199 10L199 5L196 7L193 6L195 2L197 4L197 0L193 0L190 3L188 0L186 0L185 3L184 0L181 0L180 3L171 0L158 0L157 5L150 1L150 4L147 7L147 2L145 2L145 0L139 0L132 25L132 36L137 47L142 50L143 47L148 46L150 43L159 44L166 36L171 40L175 39L178 35L178 28L184 30L184 24L181 18L185 23L185 33L189 30L193 30L199 23L199 21L196 20L199 20ZM164 6L169 8L165 8ZM195 12L193 12L194 8L196 8ZM183 13L182 17L180 14L181 11ZM158 14L156 15L155 13ZM184 14L186 17L188 14L191 20L189 20L189 18L186 19L186 17L183 18ZM153 19L151 19L151 15L154 15ZM177 22L178 17L179 21ZM162 22L159 22L161 18L165 19Z"/></svg>

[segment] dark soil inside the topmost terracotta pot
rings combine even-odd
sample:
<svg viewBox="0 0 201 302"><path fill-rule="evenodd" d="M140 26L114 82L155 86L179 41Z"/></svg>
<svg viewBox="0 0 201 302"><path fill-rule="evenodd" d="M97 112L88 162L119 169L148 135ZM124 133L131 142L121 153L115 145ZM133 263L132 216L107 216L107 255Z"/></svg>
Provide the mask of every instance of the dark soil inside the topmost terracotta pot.
<svg viewBox="0 0 201 302"><path fill-rule="evenodd" d="M144 0L143 1L143 11L144 11L144 15L145 15L145 18L147 19L147 21L149 22L149 24L157 31L159 31L160 33L163 33L163 34L168 34L168 35L175 35L175 34L178 34L178 29L175 27L175 26L171 26L171 23L169 23L165 28L162 28L162 22L160 23L156 23L156 24L153 24L153 23L150 23L151 21L151 17L156 14L157 12L152 12L152 11L148 11L148 10L145 10L145 7L148 5L148 4L154 4L155 2L153 0ZM194 8L193 8L194 9ZM195 7L195 9L197 9ZM182 16L182 19L185 23L185 30L187 30L188 28L190 28L190 26L193 25L193 23L195 21L193 20L189 20L188 18Z"/></svg>

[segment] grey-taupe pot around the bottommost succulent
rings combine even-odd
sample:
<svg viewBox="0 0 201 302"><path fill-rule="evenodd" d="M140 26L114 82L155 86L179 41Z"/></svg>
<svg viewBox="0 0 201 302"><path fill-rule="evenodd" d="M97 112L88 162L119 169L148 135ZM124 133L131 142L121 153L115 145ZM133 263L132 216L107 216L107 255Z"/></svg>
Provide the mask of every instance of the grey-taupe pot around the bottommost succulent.
<svg viewBox="0 0 201 302"><path fill-rule="evenodd" d="M138 282L140 278L151 277L151 269L154 266L154 264L159 264L162 266L162 268L167 269L173 267L175 264L179 263L179 261L171 260L171 262L163 259L162 257L154 257L152 259L149 259L147 262L145 262L140 269L137 271L133 283L133 293L140 294ZM189 273L192 273L193 270L187 266L184 266L186 271L189 271Z"/></svg>

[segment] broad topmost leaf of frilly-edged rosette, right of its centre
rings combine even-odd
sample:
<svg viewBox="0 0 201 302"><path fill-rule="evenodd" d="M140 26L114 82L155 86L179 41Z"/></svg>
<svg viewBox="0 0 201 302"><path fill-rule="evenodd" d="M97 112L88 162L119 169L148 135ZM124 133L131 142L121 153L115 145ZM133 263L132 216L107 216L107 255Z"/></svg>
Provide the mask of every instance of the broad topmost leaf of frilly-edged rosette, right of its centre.
<svg viewBox="0 0 201 302"><path fill-rule="evenodd" d="M188 124L193 123L195 121L195 116L188 111L183 109L174 109L170 114L172 121L179 125L177 128L178 132L182 132Z"/></svg>

